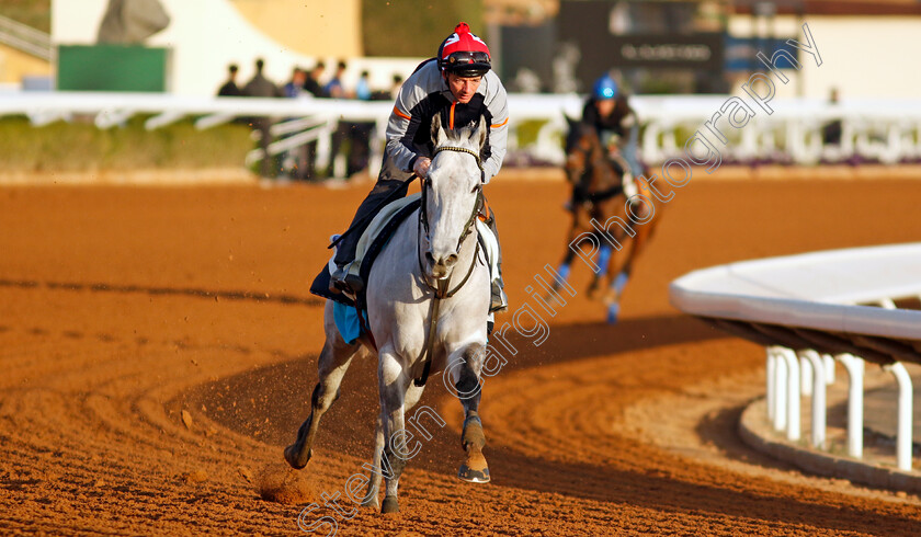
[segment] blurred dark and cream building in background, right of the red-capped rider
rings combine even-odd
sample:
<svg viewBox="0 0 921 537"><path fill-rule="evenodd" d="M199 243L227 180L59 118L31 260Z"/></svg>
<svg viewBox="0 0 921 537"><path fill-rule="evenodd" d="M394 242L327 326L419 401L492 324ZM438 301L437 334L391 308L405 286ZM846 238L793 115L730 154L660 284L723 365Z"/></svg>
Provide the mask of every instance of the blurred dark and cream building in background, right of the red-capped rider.
<svg viewBox="0 0 921 537"><path fill-rule="evenodd" d="M786 49L809 68L787 69L781 95L917 98L921 71L897 55L918 43L921 2L912 0L492 0L486 16L499 70L513 91L584 92L613 71L636 93L732 92L755 53ZM786 42L809 24L818 67ZM492 42L491 42L492 43Z"/></svg>

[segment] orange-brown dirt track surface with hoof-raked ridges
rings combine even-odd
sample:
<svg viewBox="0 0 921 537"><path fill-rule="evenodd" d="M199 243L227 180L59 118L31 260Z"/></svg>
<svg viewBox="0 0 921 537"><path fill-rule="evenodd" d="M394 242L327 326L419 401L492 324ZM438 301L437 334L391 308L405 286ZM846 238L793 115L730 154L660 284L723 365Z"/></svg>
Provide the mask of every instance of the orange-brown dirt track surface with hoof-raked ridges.
<svg viewBox="0 0 921 537"><path fill-rule="evenodd" d="M566 190L505 179L488 195L514 308L562 253ZM367 188L0 190L0 534L300 533L304 506L371 457L366 359L289 477L300 503L257 493L309 412L322 333L307 286ZM448 423L409 462L401 512L302 522L334 517L337 535L921 533L918 498L743 447L735 420L762 392L762 350L667 298L703 266L917 241L919 203L913 181L692 181L660 212L618 325L600 322L580 270L547 341L512 339L519 353L484 388L491 483L454 477L461 405L435 376L423 403Z"/></svg>

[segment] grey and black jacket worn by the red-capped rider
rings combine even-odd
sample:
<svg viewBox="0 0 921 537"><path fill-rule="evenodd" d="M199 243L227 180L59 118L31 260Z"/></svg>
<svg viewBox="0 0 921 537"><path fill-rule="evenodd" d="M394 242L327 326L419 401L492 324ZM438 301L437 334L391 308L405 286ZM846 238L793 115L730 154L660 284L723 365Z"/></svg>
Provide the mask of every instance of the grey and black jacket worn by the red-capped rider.
<svg viewBox="0 0 921 537"><path fill-rule="evenodd" d="M418 158L432 157L431 125L435 114L441 114L442 125L451 128L476 125L482 116L489 124L480 155L484 182L499 173L509 128L505 88L494 72L488 71L470 102L458 103L432 58L417 67L403 82L390 112L380 179L403 181L412 173Z"/></svg>

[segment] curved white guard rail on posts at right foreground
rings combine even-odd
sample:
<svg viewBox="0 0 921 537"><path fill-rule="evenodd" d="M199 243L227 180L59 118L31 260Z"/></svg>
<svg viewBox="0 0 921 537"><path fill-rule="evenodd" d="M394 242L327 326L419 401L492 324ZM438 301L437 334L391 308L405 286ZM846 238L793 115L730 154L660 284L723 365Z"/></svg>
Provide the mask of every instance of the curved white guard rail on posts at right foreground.
<svg viewBox="0 0 921 537"><path fill-rule="evenodd" d="M670 286L685 313L766 346L766 405L774 429L798 441L800 393L812 396L814 447L826 448L826 385L841 362L850 378L848 452L863 454L864 359L895 375L896 461L911 470L912 386L921 363L921 243L814 252L689 273ZM800 389L801 387L801 389Z"/></svg>

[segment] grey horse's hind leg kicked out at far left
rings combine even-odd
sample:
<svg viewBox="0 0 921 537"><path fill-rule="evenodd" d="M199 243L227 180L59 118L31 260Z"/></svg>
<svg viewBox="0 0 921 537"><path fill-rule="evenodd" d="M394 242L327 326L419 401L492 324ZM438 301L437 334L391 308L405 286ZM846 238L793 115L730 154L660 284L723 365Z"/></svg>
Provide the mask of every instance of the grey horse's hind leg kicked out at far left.
<svg viewBox="0 0 921 537"><path fill-rule="evenodd" d="M311 446L317 436L320 418L339 397L339 386L349 369L352 358L361 349L359 343L348 344L342 340L332 320L332 302L327 302L325 315L326 343L317 364L319 380L310 398L310 415L297 430L297 439L285 448L285 460L296 469L304 468L312 455Z"/></svg>

